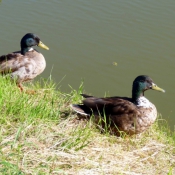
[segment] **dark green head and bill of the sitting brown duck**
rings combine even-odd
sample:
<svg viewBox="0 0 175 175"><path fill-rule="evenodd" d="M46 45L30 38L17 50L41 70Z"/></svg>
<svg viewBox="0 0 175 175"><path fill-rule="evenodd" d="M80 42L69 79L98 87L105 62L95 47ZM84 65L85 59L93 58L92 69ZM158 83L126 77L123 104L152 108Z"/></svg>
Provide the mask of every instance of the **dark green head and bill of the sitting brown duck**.
<svg viewBox="0 0 175 175"><path fill-rule="evenodd" d="M141 96L144 96L144 91L148 89L165 92L165 90L159 88L155 83L153 83L153 80L149 76L140 75L133 82L133 86L132 86L133 102L137 103L137 99Z"/></svg>

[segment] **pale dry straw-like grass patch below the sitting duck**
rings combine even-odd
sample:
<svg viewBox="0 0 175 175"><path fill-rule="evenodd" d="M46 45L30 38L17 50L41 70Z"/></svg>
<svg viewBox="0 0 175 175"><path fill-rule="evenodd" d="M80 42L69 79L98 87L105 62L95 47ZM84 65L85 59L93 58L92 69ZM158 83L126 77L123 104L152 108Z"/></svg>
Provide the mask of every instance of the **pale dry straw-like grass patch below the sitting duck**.
<svg viewBox="0 0 175 175"><path fill-rule="evenodd" d="M1 142L1 171L24 174L168 174L175 149L154 128L132 138L100 134L87 121L18 124ZM1 128L6 131L6 128ZM5 135L5 134L4 134Z"/></svg>

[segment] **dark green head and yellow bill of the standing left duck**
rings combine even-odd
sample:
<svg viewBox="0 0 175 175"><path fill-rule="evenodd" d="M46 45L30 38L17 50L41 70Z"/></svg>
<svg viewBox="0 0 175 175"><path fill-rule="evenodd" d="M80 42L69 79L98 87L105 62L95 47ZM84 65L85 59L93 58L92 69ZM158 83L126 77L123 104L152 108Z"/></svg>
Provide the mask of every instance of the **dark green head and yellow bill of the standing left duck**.
<svg viewBox="0 0 175 175"><path fill-rule="evenodd" d="M21 39L21 54L24 55L32 48L32 46L39 46L43 49L49 50L49 48L41 42L37 35L33 33L27 33Z"/></svg>

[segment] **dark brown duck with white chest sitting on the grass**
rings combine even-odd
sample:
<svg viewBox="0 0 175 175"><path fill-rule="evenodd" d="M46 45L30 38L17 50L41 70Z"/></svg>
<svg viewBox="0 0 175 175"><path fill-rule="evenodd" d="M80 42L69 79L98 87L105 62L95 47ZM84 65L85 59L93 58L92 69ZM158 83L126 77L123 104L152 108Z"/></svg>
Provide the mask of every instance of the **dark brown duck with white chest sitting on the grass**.
<svg viewBox="0 0 175 175"><path fill-rule="evenodd" d="M153 124L157 117L156 107L144 96L148 89L165 92L149 76L140 75L133 81L132 98L97 98L81 94L85 98L82 104L72 104L71 108L80 115L94 115L98 119L106 117L107 124L117 135L122 132L138 134Z"/></svg>

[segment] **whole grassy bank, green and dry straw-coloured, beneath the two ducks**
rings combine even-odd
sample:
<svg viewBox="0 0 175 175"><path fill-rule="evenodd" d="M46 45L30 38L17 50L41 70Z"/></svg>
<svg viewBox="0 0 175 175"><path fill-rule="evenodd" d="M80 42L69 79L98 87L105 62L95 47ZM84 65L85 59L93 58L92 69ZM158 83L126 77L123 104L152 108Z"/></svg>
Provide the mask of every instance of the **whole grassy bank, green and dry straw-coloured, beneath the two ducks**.
<svg viewBox="0 0 175 175"><path fill-rule="evenodd" d="M0 87L0 174L175 174L175 133L160 117L145 133L116 137L70 110L83 84L66 94L40 80L29 95L0 77Z"/></svg>

